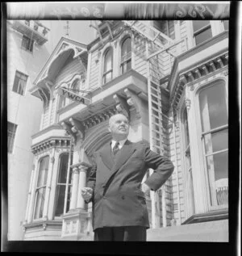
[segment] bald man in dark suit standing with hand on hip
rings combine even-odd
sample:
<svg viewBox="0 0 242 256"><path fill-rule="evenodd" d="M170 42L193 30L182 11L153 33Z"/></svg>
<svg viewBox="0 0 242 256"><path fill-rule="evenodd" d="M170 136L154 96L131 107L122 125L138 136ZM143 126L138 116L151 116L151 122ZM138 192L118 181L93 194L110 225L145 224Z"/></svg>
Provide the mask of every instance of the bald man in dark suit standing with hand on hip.
<svg viewBox="0 0 242 256"><path fill-rule="evenodd" d="M127 140L125 115L111 116L109 131L112 141L96 153L96 165L81 190L86 202L93 202L94 241L146 241L149 222L145 193L165 183L173 164L143 142ZM141 184L148 168L154 171Z"/></svg>

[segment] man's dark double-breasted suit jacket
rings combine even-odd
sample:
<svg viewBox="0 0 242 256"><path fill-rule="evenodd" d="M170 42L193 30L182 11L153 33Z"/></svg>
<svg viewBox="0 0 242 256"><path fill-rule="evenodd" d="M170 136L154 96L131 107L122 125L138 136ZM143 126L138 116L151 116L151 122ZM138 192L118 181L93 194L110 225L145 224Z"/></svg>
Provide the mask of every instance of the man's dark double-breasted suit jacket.
<svg viewBox="0 0 242 256"><path fill-rule="evenodd" d="M154 171L145 183L153 191L160 188L173 172L166 157L152 152L143 142L126 141L114 156L111 142L98 150L96 165L90 171L87 187L94 190L93 227L149 227L148 210L140 185L148 168ZM88 202L87 202L88 203Z"/></svg>

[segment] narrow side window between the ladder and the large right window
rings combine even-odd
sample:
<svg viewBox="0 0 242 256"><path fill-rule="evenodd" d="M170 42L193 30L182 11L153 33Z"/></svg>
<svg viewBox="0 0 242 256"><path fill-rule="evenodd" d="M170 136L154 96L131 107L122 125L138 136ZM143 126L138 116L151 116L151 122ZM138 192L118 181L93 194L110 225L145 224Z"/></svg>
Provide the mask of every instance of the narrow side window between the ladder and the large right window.
<svg viewBox="0 0 242 256"><path fill-rule="evenodd" d="M184 171L186 177L186 202L187 202L187 214L194 214L194 186L193 186L193 173L190 158L190 135L188 128L188 118L187 118L187 108L183 110L182 113L182 123L183 123L183 137L184 137L184 147L183 147L183 158L184 158Z"/></svg>

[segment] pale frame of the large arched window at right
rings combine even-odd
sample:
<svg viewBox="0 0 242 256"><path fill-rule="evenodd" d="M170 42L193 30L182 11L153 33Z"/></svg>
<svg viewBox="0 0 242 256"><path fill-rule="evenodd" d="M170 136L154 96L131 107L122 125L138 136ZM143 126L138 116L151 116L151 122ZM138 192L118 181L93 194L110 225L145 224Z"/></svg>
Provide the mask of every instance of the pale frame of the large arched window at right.
<svg viewBox="0 0 242 256"><path fill-rule="evenodd" d="M228 115L228 102L227 102L227 97L228 97L228 86L227 86L227 81L224 78L215 78L213 81L201 86L200 88L198 88L198 90L196 91L196 109L198 111L198 116L197 116L197 122L198 122L198 138L200 140L200 143L202 144L202 152L201 154L199 153L199 157L201 157L202 159L202 165L203 165L203 174L205 177L205 186L206 186L206 201L207 201L207 208L208 211L215 211L215 210L224 210L228 208L227 204L222 204L222 205L213 205L213 201L211 199L211 181L208 175L208 169L207 169L207 156L208 155L215 155L217 153L221 153L221 152L228 152L228 147L227 149L224 150L220 150L220 151L216 151L213 152L212 154L207 154L206 153L206 149L205 149L205 143L204 143L204 135L206 134L211 134L213 132L219 132L221 130L225 130L228 129L228 122L226 125L222 125L219 128L214 128L211 129L210 131L207 132L202 132L202 115L200 112L200 101L199 101L199 94L202 90L206 90L207 88L211 87L211 86L215 86L215 84L217 84L219 81L223 82L224 88L225 88L225 99L226 99L226 110L227 110L227 115ZM227 177L228 178L228 177ZM215 196L215 191L213 191L213 196Z"/></svg>

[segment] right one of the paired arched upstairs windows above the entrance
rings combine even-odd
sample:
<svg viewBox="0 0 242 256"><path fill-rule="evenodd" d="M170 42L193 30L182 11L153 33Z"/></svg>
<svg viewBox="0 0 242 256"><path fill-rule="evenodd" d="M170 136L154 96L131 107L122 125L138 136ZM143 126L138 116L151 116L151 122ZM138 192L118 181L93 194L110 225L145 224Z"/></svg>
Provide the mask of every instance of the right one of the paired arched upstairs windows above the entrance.
<svg viewBox="0 0 242 256"><path fill-rule="evenodd" d="M121 73L131 69L131 38L127 37L121 45Z"/></svg>

